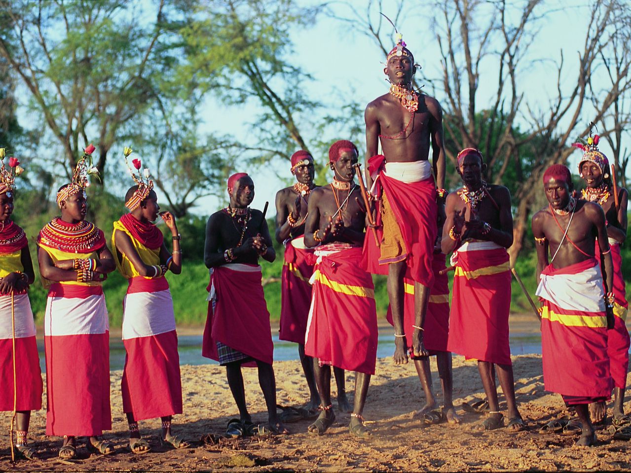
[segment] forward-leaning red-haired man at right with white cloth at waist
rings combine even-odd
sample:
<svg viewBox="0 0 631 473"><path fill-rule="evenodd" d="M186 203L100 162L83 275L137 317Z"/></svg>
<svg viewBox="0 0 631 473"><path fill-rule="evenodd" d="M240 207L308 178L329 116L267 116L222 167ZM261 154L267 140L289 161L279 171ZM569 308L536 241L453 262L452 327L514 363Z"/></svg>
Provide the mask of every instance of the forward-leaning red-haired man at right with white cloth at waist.
<svg viewBox="0 0 631 473"><path fill-rule="evenodd" d="M597 439L588 404L609 399L613 387L607 353L615 302L608 290L613 287L611 248L603 209L572 197L569 169L550 166L543 174L543 188L548 207L533 216L540 280L536 294L543 302L543 382L546 390L558 392L574 407L582 423L577 445L589 446Z"/></svg>

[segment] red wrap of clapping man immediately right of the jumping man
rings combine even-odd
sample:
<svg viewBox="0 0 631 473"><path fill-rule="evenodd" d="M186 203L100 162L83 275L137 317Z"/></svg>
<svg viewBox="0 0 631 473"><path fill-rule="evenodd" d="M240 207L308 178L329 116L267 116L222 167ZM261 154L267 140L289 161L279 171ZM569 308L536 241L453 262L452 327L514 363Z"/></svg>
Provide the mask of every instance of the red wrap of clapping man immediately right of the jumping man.
<svg viewBox="0 0 631 473"><path fill-rule="evenodd" d="M447 350L483 362L510 365L510 270L470 279L460 271L504 265L504 248L458 253Z"/></svg>

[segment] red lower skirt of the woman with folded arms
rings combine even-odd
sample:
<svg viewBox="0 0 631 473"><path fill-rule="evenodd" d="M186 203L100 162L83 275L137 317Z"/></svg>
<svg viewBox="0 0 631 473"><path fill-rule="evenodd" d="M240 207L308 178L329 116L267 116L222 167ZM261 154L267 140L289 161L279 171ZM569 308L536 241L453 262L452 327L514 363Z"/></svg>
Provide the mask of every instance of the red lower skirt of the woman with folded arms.
<svg viewBox="0 0 631 473"><path fill-rule="evenodd" d="M109 332L44 337L46 435L97 436L112 429L109 341Z"/></svg>

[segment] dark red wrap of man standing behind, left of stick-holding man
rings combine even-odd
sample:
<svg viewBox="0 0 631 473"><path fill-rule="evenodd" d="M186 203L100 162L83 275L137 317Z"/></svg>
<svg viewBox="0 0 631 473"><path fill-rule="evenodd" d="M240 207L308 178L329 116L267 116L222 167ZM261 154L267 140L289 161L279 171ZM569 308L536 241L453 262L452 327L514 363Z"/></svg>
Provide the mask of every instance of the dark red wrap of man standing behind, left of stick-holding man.
<svg viewBox="0 0 631 473"><path fill-rule="evenodd" d="M313 250L295 248L291 242L285 245L285 265L281 275L281 340L305 343L307 319L311 305L311 285L309 278L314 272ZM300 273L298 276L295 271Z"/></svg>

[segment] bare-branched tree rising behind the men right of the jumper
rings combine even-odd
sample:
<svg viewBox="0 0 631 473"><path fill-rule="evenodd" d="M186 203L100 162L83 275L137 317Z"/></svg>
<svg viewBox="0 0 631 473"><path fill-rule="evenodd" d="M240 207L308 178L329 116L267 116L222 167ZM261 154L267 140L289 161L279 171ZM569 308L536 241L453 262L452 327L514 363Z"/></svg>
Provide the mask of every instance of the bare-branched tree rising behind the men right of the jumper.
<svg viewBox="0 0 631 473"><path fill-rule="evenodd" d="M376 39L382 31L374 11L378 6L369 3L362 32L384 50L384 42ZM485 178L509 185L516 205L512 261L522 248L545 168L567 161L571 140L586 135L589 122L611 121L613 114L627 123L629 117L628 110L611 109L631 88L628 4L594 1L577 60L568 64L559 51L559 59L546 65L553 81L549 89L555 93L541 106L540 94L528 95L522 74L540 59L531 57L528 47L536 38L544 8L541 0L510 6L505 0L447 0L434 7L440 73L430 83L435 84L445 111L445 153L455 167L460 149L478 147L488 164ZM405 9L405 0L399 0L399 13ZM353 14L357 16L356 11ZM615 60L610 59L613 51ZM593 93L602 74L610 77L611 84ZM497 84L492 98L483 103L478 99L481 82ZM608 131L605 128L603 135ZM507 183L511 166L519 178Z"/></svg>

